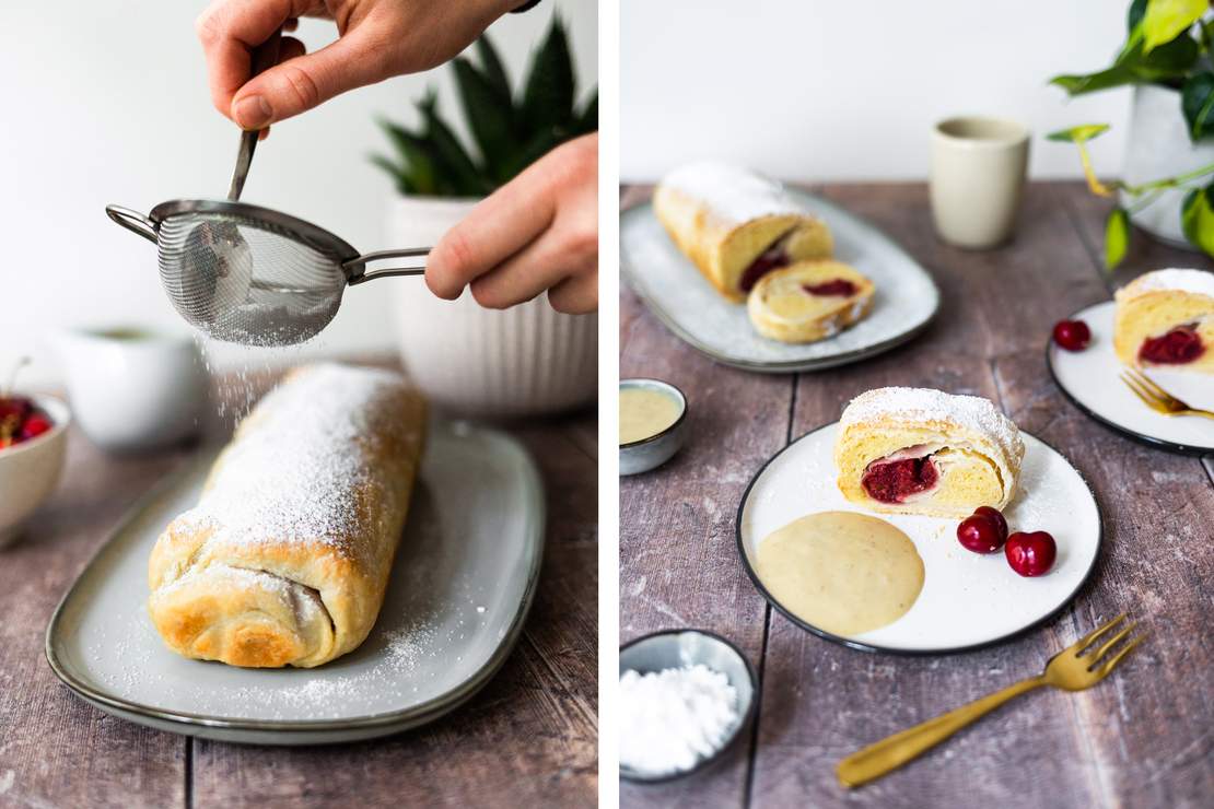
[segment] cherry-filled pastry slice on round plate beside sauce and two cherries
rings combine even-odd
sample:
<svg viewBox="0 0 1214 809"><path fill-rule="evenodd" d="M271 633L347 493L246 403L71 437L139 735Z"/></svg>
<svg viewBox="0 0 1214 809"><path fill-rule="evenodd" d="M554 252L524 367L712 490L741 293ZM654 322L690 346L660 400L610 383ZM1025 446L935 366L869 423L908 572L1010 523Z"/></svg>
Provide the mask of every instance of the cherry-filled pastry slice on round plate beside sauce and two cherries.
<svg viewBox="0 0 1214 809"><path fill-rule="evenodd" d="M926 388L878 388L843 411L839 489L877 512L966 517L1016 494L1025 444L988 400Z"/></svg>

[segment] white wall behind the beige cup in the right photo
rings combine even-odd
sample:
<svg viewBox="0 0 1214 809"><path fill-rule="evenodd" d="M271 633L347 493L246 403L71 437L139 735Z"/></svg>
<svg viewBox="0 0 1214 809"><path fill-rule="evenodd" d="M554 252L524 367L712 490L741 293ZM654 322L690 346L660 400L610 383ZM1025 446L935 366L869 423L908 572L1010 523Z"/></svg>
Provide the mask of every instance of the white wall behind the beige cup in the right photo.
<svg viewBox="0 0 1214 809"><path fill-rule="evenodd" d="M1096 165L1121 165L1128 90L1072 102L1056 73L1106 67L1128 0L622 0L620 173L654 180L728 156L787 180L923 178L935 121L1104 121ZM1076 176L1073 148L1034 137L1036 177Z"/></svg>

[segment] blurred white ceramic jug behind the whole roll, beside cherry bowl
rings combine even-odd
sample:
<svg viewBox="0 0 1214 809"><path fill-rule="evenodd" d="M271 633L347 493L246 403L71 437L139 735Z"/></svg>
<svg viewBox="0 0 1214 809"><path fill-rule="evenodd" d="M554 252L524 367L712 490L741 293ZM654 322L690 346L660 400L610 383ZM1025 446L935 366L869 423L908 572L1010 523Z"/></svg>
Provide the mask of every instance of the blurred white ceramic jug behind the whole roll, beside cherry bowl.
<svg viewBox="0 0 1214 809"><path fill-rule="evenodd" d="M76 423L102 449L158 449L199 432L210 386L193 336L80 329L56 347Z"/></svg>

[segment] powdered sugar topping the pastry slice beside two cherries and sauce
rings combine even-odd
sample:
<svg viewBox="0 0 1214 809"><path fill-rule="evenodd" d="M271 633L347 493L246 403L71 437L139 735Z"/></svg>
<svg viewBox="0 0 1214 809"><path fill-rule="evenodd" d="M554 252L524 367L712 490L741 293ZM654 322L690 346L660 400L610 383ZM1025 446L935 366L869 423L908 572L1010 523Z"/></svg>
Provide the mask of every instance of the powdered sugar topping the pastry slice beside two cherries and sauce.
<svg viewBox="0 0 1214 809"><path fill-rule="evenodd" d="M902 422L952 421L993 440L1011 458L1025 455L1020 429L989 399L958 395L931 388L877 388L851 400L839 418L840 426L879 418Z"/></svg>

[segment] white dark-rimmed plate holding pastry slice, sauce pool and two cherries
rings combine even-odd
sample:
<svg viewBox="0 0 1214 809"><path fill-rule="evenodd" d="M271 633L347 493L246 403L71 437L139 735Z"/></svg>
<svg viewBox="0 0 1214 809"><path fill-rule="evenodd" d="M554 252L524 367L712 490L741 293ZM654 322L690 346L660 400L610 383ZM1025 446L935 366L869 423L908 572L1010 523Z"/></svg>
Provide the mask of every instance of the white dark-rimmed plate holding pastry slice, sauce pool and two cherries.
<svg viewBox="0 0 1214 809"><path fill-rule="evenodd" d="M793 520L824 511L864 512L835 485L833 458L838 422L801 437L760 469L738 507L737 537L743 566L755 587L790 621L853 649L895 654L943 654L1005 640L1049 619L1074 598L1100 551L1100 508L1091 489L1065 457L1021 433L1025 461L1020 490L1004 509L1011 531L1049 531L1057 560L1044 576L1017 575L1003 552L974 553L957 541L955 519L874 514L914 542L924 585L910 610L872 632L838 636L792 615L755 574L764 537Z"/></svg>

